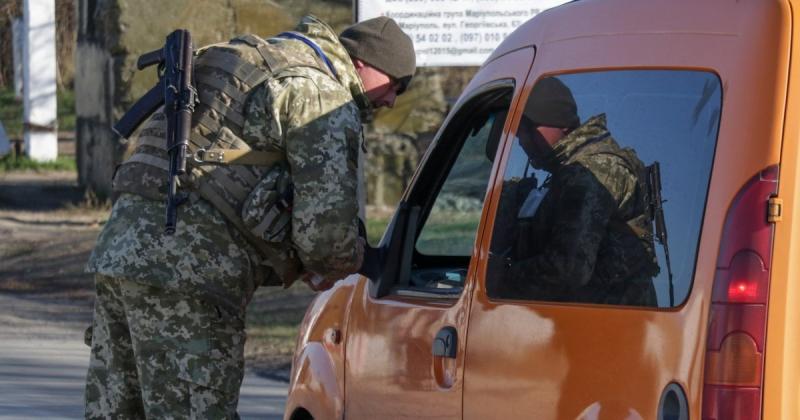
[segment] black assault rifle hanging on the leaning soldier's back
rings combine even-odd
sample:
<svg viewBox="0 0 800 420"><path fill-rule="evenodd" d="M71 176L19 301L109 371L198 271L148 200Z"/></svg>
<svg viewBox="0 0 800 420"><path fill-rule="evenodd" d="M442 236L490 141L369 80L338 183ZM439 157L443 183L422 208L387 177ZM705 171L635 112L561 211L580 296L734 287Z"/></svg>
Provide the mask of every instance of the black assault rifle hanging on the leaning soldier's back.
<svg viewBox="0 0 800 420"><path fill-rule="evenodd" d="M114 131L127 138L161 104L167 117L166 147L169 155L167 203L164 234L175 233L178 206L186 200L178 194L178 176L186 173L186 149L197 91L192 85L194 50L192 36L185 29L167 35L164 47L143 54L136 62L139 70L158 64L158 83L114 125Z"/></svg>

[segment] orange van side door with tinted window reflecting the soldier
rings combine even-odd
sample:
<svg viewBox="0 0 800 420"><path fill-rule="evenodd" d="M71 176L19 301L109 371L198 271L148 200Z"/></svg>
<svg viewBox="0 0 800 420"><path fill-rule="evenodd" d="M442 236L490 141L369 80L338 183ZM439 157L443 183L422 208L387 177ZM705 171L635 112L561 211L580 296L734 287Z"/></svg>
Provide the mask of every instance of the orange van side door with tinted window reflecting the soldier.
<svg viewBox="0 0 800 420"><path fill-rule="evenodd" d="M581 125L543 152L530 147L538 116L528 92L551 76L571 92ZM720 79L592 69L529 80L488 206L464 418L686 418L701 328L698 309L682 305L709 191ZM648 232L652 219L624 218L637 215L623 210L646 188L633 178L636 160L660 163L669 267Z"/></svg>

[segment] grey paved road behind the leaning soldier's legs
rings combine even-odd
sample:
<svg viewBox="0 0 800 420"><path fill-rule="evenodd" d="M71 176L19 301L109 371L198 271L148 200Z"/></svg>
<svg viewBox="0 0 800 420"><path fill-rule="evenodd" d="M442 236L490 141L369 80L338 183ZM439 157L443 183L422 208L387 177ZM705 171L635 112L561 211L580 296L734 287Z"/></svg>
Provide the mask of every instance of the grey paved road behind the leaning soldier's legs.
<svg viewBox="0 0 800 420"><path fill-rule="evenodd" d="M19 307L0 294L0 419L83 418L83 384L89 348L76 328L31 322L7 309ZM280 419L286 386L248 374L242 386L243 419Z"/></svg>

